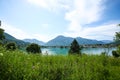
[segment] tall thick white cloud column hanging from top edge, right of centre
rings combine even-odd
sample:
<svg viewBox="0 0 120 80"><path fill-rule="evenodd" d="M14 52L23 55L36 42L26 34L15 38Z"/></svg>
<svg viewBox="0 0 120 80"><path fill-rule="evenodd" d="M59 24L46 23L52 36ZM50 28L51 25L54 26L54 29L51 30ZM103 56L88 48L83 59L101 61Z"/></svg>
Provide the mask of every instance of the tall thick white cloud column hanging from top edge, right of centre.
<svg viewBox="0 0 120 80"><path fill-rule="evenodd" d="M65 13L65 19L70 21L68 30L82 30L83 25L101 19L104 0L74 0L72 9Z"/></svg>

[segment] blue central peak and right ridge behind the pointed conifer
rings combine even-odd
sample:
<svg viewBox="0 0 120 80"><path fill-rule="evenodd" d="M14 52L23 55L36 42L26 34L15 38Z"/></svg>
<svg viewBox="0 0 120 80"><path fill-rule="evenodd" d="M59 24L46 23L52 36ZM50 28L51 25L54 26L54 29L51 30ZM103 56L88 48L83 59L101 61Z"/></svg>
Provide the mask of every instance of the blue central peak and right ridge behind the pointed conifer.
<svg viewBox="0 0 120 80"><path fill-rule="evenodd" d="M47 42L45 45L46 46L69 46L74 38L71 37L65 37L65 36L58 36L49 42ZM105 44L102 41L97 41L97 40L91 40L91 39L85 39L81 37L75 38L80 45L84 44Z"/></svg>

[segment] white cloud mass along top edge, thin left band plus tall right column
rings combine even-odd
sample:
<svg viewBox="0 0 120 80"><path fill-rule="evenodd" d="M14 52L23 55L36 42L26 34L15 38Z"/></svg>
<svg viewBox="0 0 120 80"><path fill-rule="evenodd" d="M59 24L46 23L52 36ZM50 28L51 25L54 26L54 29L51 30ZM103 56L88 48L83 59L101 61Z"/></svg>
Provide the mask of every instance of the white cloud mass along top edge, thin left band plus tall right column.
<svg viewBox="0 0 120 80"><path fill-rule="evenodd" d="M105 0L27 0L33 5L50 11L65 10L64 19L69 21L68 30L78 31L83 25L101 19Z"/></svg>

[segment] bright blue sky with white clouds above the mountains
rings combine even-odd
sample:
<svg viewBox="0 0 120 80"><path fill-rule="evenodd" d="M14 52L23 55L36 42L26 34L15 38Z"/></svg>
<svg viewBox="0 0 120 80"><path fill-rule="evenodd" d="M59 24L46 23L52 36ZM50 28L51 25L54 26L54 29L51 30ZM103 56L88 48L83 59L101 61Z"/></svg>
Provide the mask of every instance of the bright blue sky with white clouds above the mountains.
<svg viewBox="0 0 120 80"><path fill-rule="evenodd" d="M21 40L113 40L120 31L120 0L0 0L0 20L5 32Z"/></svg>

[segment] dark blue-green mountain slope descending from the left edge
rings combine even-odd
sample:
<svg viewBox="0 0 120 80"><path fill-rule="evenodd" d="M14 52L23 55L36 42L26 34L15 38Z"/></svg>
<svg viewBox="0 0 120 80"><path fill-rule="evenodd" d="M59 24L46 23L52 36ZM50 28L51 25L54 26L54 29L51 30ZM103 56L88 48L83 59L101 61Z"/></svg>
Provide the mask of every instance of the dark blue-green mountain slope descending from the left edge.
<svg viewBox="0 0 120 80"><path fill-rule="evenodd" d="M4 40L5 43L6 42L15 42L19 46L25 46L25 45L29 44L22 40L16 39L15 37L11 36L8 33L4 33L4 36L5 36L5 40Z"/></svg>

